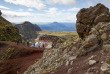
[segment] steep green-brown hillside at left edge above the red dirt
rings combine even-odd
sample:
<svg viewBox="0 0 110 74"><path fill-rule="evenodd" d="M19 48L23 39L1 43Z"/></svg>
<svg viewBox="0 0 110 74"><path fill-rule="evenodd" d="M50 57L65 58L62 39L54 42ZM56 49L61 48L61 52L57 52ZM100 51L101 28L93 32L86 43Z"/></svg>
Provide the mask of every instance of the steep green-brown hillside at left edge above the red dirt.
<svg viewBox="0 0 110 74"><path fill-rule="evenodd" d="M0 14L2 14L0 12ZM19 31L9 21L0 16L0 41L14 41L22 40Z"/></svg>

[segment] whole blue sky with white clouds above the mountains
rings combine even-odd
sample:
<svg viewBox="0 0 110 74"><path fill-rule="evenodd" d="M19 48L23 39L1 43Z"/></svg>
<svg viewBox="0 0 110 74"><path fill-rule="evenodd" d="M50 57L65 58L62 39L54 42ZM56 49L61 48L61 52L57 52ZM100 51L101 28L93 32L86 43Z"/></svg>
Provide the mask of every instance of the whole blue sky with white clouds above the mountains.
<svg viewBox="0 0 110 74"><path fill-rule="evenodd" d="M110 0L0 0L2 16L10 22L76 22L82 8Z"/></svg>

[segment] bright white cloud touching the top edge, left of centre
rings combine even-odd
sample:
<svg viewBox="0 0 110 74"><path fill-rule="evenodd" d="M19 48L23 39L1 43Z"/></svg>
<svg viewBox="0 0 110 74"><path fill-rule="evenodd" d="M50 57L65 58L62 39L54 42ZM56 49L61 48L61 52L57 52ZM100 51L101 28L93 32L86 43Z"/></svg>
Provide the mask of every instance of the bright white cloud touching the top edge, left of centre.
<svg viewBox="0 0 110 74"><path fill-rule="evenodd" d="M13 3L16 5L23 5L26 7L32 7L38 10L44 9L46 6L44 5L42 0L5 0L5 2Z"/></svg>

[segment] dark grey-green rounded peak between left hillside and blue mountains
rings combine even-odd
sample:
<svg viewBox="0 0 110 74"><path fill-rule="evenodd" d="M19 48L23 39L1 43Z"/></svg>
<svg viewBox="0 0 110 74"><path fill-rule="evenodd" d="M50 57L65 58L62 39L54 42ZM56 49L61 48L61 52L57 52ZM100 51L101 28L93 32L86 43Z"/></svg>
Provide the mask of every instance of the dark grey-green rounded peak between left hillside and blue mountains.
<svg viewBox="0 0 110 74"><path fill-rule="evenodd" d="M32 24L28 21L15 24L15 26L19 29L20 34L25 39L34 39L38 36L37 31L41 31L38 25Z"/></svg>

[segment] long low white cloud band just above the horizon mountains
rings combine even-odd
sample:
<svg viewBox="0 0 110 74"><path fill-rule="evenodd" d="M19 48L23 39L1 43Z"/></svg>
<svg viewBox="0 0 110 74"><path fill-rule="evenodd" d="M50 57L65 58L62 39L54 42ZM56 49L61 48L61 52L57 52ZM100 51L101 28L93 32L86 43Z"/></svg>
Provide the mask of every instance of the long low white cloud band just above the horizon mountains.
<svg viewBox="0 0 110 74"><path fill-rule="evenodd" d="M45 10L45 13L32 13L10 10L2 10L2 13L2 16L11 22L76 22L76 13L59 11L55 7Z"/></svg>

